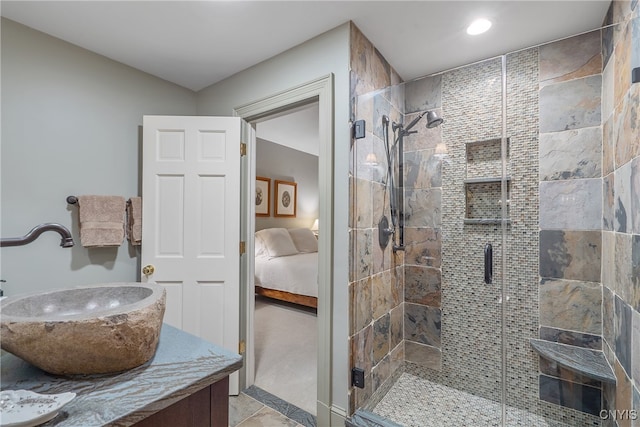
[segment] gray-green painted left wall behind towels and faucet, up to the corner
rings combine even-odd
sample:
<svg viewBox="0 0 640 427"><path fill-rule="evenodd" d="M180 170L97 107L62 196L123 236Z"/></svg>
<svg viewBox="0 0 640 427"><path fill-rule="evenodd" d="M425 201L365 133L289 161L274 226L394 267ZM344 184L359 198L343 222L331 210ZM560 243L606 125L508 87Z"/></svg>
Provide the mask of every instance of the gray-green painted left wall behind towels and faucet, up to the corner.
<svg viewBox="0 0 640 427"><path fill-rule="evenodd" d="M195 113L188 89L3 18L1 235L59 222L77 240L62 249L45 233L2 248L5 295L136 281L136 250L80 246L77 208L65 199L139 194L142 116Z"/></svg>

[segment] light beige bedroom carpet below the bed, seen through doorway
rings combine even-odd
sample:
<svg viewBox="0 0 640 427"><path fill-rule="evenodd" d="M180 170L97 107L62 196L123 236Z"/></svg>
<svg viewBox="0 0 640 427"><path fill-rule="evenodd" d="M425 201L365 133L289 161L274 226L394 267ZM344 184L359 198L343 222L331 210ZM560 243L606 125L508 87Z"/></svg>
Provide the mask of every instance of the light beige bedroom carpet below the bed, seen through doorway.
<svg viewBox="0 0 640 427"><path fill-rule="evenodd" d="M313 309L256 297L255 385L313 415L317 316Z"/></svg>

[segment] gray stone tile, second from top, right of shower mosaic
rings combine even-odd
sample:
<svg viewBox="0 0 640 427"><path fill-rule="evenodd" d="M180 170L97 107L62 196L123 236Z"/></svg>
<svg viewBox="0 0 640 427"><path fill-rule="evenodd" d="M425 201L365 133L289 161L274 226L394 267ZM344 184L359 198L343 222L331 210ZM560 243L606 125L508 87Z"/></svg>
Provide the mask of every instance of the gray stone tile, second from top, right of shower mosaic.
<svg viewBox="0 0 640 427"><path fill-rule="evenodd" d="M545 86L540 90L540 132L599 126L602 76Z"/></svg>

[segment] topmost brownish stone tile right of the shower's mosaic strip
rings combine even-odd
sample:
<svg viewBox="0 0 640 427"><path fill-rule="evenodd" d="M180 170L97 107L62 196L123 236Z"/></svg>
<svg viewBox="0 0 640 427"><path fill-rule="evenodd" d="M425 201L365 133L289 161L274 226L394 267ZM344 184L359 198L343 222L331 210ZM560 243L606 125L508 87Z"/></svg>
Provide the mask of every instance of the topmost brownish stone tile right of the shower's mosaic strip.
<svg viewBox="0 0 640 427"><path fill-rule="evenodd" d="M540 47L540 85L602 72L600 30Z"/></svg>

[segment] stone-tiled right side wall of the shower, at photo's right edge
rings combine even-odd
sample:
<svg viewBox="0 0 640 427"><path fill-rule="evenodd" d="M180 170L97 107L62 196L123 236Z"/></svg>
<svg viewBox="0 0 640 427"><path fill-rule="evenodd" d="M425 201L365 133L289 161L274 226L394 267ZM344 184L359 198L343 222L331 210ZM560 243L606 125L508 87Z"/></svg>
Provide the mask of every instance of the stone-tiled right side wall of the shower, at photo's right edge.
<svg viewBox="0 0 640 427"><path fill-rule="evenodd" d="M608 408L634 409L640 426L640 6L614 2L603 31L602 284L603 348L616 387L605 387ZM613 425L613 422L611 422Z"/></svg>

